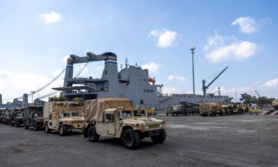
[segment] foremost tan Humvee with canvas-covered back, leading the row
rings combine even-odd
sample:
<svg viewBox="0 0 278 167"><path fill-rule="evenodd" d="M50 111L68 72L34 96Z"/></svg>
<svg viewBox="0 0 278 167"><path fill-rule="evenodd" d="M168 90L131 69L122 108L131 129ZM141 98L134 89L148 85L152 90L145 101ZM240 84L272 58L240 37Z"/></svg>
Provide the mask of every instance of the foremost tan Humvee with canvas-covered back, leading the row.
<svg viewBox="0 0 278 167"><path fill-rule="evenodd" d="M99 136L122 138L126 148L136 149L140 140L151 137L154 143L166 138L165 121L149 118L145 110L134 108L133 101L107 98L85 101L84 137L97 142Z"/></svg>

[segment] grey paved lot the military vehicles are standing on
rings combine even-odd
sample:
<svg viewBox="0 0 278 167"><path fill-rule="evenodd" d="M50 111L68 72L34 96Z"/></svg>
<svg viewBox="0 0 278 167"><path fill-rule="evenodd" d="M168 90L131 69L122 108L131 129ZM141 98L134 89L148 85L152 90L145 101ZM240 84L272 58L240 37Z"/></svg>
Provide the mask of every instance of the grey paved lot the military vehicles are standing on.
<svg viewBox="0 0 278 167"><path fill-rule="evenodd" d="M145 138L138 150L0 125L0 166L278 166L278 116L155 117L167 121L165 143Z"/></svg>

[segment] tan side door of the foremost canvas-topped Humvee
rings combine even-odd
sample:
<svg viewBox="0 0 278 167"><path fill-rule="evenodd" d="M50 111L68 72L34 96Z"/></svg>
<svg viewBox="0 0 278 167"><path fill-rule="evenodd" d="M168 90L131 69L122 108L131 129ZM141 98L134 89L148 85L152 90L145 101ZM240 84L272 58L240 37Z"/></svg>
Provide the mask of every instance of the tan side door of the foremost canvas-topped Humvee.
<svg viewBox="0 0 278 167"><path fill-rule="evenodd" d="M104 122L106 123L106 134L116 134L116 124L115 124L115 112L106 111L104 112Z"/></svg>

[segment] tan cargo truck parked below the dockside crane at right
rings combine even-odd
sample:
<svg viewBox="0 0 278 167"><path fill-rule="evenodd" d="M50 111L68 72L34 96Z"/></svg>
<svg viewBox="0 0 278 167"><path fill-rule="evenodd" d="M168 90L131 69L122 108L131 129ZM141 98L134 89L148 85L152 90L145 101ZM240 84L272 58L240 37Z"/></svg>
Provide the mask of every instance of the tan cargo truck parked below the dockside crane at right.
<svg viewBox="0 0 278 167"><path fill-rule="evenodd" d="M223 115L222 104L220 102L202 102L200 104L200 116Z"/></svg>

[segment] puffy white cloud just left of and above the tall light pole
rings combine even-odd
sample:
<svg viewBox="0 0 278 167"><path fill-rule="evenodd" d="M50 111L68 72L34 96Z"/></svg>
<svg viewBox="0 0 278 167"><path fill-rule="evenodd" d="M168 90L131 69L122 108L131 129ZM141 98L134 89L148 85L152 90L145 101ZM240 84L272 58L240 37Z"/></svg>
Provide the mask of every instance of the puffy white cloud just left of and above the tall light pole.
<svg viewBox="0 0 278 167"><path fill-rule="evenodd" d="M149 32L148 37L154 37L157 40L157 46L161 48L171 47L177 40L178 33L168 29L157 30L154 29Z"/></svg>

